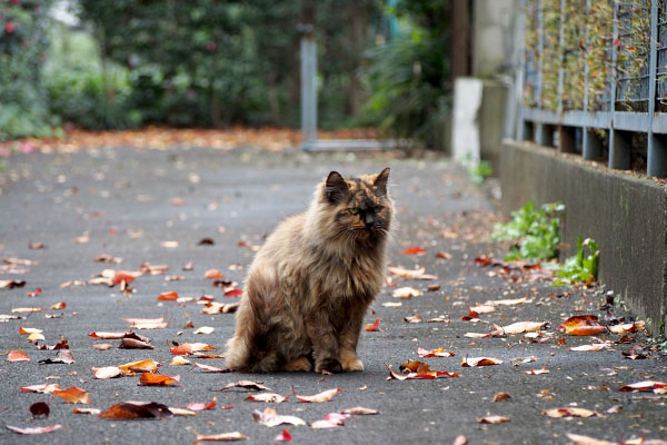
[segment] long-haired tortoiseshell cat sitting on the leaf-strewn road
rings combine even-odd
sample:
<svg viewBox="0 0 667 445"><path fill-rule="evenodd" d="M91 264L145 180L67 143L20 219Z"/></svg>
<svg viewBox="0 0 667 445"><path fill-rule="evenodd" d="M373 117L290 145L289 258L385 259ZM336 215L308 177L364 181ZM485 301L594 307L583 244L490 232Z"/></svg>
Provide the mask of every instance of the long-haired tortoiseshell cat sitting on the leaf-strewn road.
<svg viewBox="0 0 667 445"><path fill-rule="evenodd" d="M389 167L351 178L331 171L308 209L278 225L248 270L228 368L364 370L357 342L386 277L388 179Z"/></svg>

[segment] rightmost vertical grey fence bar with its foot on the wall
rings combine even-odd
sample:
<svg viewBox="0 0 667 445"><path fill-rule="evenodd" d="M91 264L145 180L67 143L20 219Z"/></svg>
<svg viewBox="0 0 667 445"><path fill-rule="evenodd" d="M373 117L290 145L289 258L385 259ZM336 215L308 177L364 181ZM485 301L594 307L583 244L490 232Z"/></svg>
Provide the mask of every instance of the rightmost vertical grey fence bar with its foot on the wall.
<svg viewBox="0 0 667 445"><path fill-rule="evenodd" d="M648 176L667 177L667 147L664 139L654 135L656 111L656 75L658 66L658 0L650 2L650 51L648 59Z"/></svg>

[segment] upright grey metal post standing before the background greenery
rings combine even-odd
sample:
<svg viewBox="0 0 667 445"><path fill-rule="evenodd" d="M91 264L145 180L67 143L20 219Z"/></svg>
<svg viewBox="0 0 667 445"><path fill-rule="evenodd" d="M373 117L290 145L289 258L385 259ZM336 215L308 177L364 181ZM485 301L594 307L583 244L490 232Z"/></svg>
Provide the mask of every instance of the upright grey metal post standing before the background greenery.
<svg viewBox="0 0 667 445"><path fill-rule="evenodd" d="M301 38L301 132L303 146L317 140L317 44Z"/></svg>

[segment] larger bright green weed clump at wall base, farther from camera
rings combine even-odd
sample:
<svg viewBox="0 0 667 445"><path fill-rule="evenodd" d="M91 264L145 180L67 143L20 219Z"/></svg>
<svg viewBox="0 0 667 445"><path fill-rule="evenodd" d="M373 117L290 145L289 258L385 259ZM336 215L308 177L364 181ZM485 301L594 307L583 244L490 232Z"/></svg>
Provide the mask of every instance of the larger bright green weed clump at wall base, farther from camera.
<svg viewBox="0 0 667 445"><path fill-rule="evenodd" d="M506 260L525 259L529 261L558 258L560 243L560 219L557 212L563 204L545 204L539 209L532 201L511 212L507 224L496 224L491 239L516 240L505 257Z"/></svg>

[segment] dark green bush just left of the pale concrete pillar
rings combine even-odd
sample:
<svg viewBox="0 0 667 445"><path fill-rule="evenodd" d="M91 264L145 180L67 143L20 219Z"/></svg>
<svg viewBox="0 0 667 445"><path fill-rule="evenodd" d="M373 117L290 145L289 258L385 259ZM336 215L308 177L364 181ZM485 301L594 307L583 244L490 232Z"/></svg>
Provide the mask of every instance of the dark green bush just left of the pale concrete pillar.
<svg viewBox="0 0 667 445"><path fill-rule="evenodd" d="M449 2L421 0L399 2L391 11L404 31L368 52L364 76L372 93L364 123L434 144L450 107L449 9Z"/></svg>

